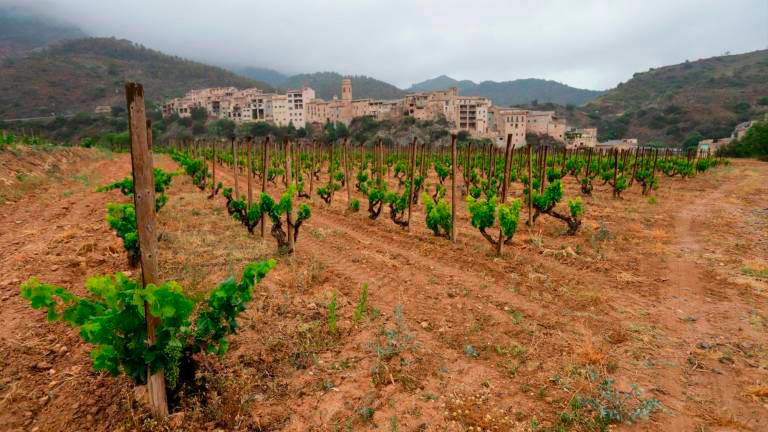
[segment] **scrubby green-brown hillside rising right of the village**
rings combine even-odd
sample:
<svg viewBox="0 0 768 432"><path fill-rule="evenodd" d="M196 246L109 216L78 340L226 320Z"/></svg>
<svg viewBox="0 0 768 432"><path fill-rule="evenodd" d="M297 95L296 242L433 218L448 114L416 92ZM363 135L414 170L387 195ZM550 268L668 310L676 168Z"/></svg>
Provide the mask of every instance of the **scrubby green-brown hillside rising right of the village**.
<svg viewBox="0 0 768 432"><path fill-rule="evenodd" d="M626 123L625 136L679 143L694 132L725 136L768 106L768 50L712 57L637 73L572 111L569 120L604 128ZM620 126L620 125L619 125Z"/></svg>

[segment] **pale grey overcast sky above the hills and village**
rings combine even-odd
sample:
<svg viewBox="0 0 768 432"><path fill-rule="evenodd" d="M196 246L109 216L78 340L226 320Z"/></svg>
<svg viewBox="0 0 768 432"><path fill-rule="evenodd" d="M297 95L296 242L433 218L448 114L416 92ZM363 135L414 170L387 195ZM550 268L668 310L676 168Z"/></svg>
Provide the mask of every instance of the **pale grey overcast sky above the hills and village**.
<svg viewBox="0 0 768 432"><path fill-rule="evenodd" d="M650 67L768 48L768 0L0 0L208 63L399 87L546 78L606 89Z"/></svg>

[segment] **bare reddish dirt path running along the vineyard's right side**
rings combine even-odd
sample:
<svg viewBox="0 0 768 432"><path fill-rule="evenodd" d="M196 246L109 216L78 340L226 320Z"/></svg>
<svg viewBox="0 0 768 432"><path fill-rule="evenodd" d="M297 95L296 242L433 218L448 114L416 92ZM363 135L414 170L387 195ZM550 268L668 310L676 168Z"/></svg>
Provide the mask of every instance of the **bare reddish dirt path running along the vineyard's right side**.
<svg viewBox="0 0 768 432"><path fill-rule="evenodd" d="M724 253L725 245L713 245L711 234L701 229L704 221L737 211L727 197L756 193L764 182L768 182L765 171L739 176L701 194L674 219L666 283L652 312L670 331L671 343L662 356L678 365L665 369L658 381L658 388L669 392L665 403L674 412L673 430L695 430L702 419L744 430L768 427L765 411L742 403L745 388L765 380L765 371L760 373L744 358L751 357L752 347L766 343L765 333L745 328L742 314L753 305L739 295L740 287L723 283L708 271L702 256Z"/></svg>

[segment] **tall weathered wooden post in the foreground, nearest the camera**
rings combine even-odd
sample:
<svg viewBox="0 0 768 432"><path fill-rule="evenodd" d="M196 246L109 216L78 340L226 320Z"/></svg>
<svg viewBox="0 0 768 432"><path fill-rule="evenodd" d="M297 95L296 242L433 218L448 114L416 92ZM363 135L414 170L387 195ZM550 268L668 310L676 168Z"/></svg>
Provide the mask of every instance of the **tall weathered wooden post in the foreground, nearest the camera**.
<svg viewBox="0 0 768 432"><path fill-rule="evenodd" d="M131 137L131 167L133 169L133 205L136 209L136 228L141 255L142 285L158 284L157 229L155 227L155 182L152 171L152 153L149 151L152 135L147 127L144 112L144 88L141 84L126 83L125 98L128 105L128 128ZM154 345L155 328L160 320L149 311L144 303L147 321L147 343ZM168 416L168 400L165 395L163 371L152 374L147 366L147 391L152 413L158 417Z"/></svg>

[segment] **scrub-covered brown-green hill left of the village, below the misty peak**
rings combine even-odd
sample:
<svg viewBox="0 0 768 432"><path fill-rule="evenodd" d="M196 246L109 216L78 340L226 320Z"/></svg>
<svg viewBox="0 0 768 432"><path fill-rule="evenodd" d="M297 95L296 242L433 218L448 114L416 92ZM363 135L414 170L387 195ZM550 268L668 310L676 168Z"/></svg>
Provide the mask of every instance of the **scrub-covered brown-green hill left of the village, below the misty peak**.
<svg viewBox="0 0 768 432"><path fill-rule="evenodd" d="M189 89L267 84L221 68L173 57L113 38L54 44L0 68L0 118L90 112L97 105L124 105L123 83L144 84L147 99L161 101Z"/></svg>

